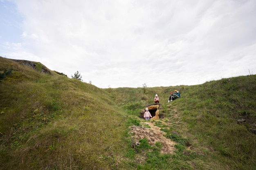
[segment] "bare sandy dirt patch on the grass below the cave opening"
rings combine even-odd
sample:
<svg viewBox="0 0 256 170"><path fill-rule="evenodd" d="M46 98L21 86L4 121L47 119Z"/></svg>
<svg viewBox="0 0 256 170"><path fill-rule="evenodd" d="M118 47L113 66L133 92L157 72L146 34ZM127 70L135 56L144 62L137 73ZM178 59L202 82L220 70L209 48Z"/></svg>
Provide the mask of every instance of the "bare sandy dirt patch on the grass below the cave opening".
<svg viewBox="0 0 256 170"><path fill-rule="evenodd" d="M131 126L131 130L133 133L132 138L135 142L139 142L140 139L146 137L148 139L148 143L150 146L155 146L156 142L161 142L163 147L161 148L161 153L169 154L175 150L174 145L175 142L171 141L171 139L167 139L164 137L165 132L161 131L159 127L155 126L155 122L146 121L141 122L142 126ZM144 127L144 126L150 126Z"/></svg>

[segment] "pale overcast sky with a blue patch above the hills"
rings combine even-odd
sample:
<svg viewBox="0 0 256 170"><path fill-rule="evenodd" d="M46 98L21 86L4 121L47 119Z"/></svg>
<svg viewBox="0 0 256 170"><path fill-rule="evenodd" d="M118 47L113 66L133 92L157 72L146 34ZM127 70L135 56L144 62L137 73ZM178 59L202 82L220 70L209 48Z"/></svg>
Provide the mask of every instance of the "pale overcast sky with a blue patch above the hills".
<svg viewBox="0 0 256 170"><path fill-rule="evenodd" d="M0 0L0 56L99 88L256 73L256 0Z"/></svg>

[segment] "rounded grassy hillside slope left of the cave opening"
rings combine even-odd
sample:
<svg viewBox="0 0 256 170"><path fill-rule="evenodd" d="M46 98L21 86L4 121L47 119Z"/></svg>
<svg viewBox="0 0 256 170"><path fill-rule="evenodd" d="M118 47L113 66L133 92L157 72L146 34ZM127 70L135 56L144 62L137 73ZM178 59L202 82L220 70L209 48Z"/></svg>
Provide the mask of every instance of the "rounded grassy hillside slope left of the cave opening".
<svg viewBox="0 0 256 170"><path fill-rule="evenodd" d="M13 68L0 83L2 169L115 166L125 117L102 89L5 58L0 63L1 71Z"/></svg>

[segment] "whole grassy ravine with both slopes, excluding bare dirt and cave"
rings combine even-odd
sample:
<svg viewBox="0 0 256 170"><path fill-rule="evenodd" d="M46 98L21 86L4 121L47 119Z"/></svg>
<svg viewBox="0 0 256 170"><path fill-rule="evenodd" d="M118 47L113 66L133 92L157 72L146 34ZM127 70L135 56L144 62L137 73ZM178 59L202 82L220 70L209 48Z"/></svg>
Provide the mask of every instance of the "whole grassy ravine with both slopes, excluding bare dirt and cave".
<svg viewBox="0 0 256 170"><path fill-rule="evenodd" d="M0 73L11 68L0 82L1 170L256 169L256 75L101 89L0 57ZM167 103L175 89L182 97ZM131 140L129 127L144 121L139 111L156 93L164 119L155 124L176 142L174 154L161 154L161 142Z"/></svg>

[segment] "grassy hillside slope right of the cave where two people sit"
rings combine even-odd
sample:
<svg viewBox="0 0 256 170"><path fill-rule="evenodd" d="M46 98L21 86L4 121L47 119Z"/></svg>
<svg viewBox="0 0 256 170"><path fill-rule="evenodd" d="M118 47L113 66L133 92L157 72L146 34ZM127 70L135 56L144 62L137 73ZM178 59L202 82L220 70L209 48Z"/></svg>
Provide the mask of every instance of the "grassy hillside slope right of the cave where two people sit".
<svg viewBox="0 0 256 170"><path fill-rule="evenodd" d="M175 89L182 97L167 103L170 91ZM158 94L160 113L165 117L164 124L157 123L159 127L172 140L189 140L186 149L177 152L182 155L178 160L189 152L189 158L182 161L189 161L192 169L256 169L256 75L195 86L146 88L146 93L144 90L117 88L112 93L128 112L135 108L134 114L141 105L153 104L154 95ZM171 167L176 168L173 164ZM191 167L180 163L179 168Z"/></svg>

